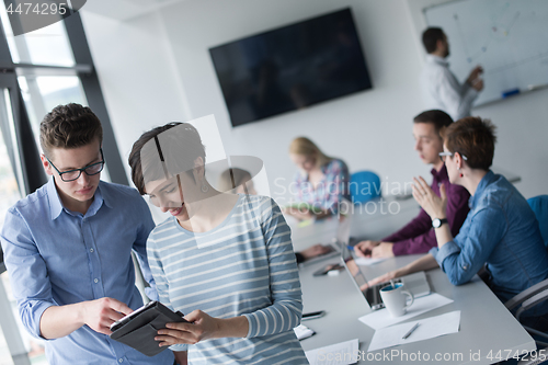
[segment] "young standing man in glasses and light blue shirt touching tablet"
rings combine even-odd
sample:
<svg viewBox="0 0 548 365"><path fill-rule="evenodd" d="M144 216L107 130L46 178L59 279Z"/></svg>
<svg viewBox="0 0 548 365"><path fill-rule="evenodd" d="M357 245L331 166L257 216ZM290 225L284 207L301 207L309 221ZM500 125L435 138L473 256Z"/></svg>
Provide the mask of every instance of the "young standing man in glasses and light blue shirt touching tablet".
<svg viewBox="0 0 548 365"><path fill-rule="evenodd" d="M1 232L4 261L26 329L46 341L50 364L173 364L109 338L142 305L132 250L158 299L146 241L150 210L130 187L100 181L101 122L89 107L59 105L41 124L42 163L53 179L18 202Z"/></svg>

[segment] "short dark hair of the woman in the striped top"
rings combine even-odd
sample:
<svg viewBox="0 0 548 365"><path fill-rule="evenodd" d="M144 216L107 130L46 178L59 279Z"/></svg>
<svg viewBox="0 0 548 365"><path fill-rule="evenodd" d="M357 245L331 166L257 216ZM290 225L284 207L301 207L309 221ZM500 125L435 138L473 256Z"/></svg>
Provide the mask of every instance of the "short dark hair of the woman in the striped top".
<svg viewBox="0 0 548 365"><path fill-rule="evenodd" d="M196 128L189 123L168 123L144 133L134 144L128 158L132 180L139 193L145 195L146 182L182 172L192 174L198 157L205 163L205 148ZM160 161L164 163L158 163Z"/></svg>

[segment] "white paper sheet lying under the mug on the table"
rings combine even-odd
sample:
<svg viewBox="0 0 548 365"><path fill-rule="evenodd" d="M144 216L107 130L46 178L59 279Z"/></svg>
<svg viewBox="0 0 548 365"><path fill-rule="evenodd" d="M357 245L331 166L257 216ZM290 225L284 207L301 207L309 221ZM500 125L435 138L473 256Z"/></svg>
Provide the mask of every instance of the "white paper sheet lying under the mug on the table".
<svg viewBox="0 0 548 365"><path fill-rule="evenodd" d="M358 320L362 323L365 323L370 328L378 330L379 328L385 328L399 322L403 322L404 320L427 312L429 310L443 307L445 305L448 305L449 303L453 303L453 299L446 298L437 293L432 293L431 295L427 295L425 297L414 299L413 305L408 308L408 312L401 317L390 316L388 310L385 308L359 317Z"/></svg>

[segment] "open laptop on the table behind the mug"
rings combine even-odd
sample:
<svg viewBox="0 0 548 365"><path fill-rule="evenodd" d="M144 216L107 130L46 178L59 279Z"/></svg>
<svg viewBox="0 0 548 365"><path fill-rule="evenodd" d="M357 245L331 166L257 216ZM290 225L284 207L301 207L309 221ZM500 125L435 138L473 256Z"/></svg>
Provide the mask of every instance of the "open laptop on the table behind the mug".
<svg viewBox="0 0 548 365"><path fill-rule="evenodd" d="M346 244L341 248L341 260L344 267L349 272L350 277L352 277L352 282L354 282L355 287L359 290L367 303L367 306L369 306L373 310L385 308L383 298L380 297L380 288L389 285L390 283L379 283L372 287L367 287L367 278L359 270L359 266L356 264L354 256ZM406 289L411 292L415 298L426 296L431 293L426 274L423 271L395 278L393 282L402 283Z"/></svg>

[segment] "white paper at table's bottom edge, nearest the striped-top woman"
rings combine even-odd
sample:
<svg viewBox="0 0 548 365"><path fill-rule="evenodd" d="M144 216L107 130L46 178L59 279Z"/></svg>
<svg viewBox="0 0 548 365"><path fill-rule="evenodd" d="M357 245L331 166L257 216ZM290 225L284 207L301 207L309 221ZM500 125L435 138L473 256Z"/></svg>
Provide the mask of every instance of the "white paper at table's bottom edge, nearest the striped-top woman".
<svg viewBox="0 0 548 365"><path fill-rule="evenodd" d="M305 352L310 365L346 365L357 363L357 339Z"/></svg>

